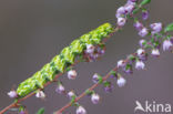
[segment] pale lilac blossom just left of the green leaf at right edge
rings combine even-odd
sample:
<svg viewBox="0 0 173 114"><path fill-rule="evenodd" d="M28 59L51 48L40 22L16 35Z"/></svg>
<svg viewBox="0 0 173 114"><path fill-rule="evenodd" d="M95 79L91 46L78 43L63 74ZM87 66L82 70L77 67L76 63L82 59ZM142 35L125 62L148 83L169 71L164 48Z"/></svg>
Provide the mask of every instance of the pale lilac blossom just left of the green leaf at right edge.
<svg viewBox="0 0 173 114"><path fill-rule="evenodd" d="M152 23L152 24L150 24L150 28L153 30L152 34L159 33L162 31L162 23L161 22Z"/></svg>

